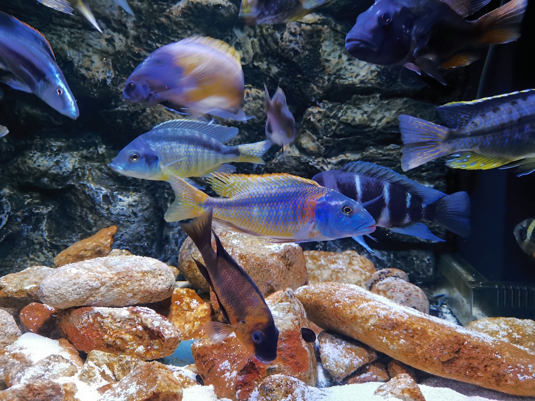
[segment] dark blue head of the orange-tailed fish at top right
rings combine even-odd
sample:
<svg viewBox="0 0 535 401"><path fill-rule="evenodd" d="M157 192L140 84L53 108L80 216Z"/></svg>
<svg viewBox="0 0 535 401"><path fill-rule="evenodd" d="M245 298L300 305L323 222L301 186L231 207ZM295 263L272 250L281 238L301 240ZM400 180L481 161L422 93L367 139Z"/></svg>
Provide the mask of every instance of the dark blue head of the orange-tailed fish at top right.
<svg viewBox="0 0 535 401"><path fill-rule="evenodd" d="M396 64L411 47L414 15L403 0L377 0L357 17L346 36L346 50L359 60Z"/></svg>

